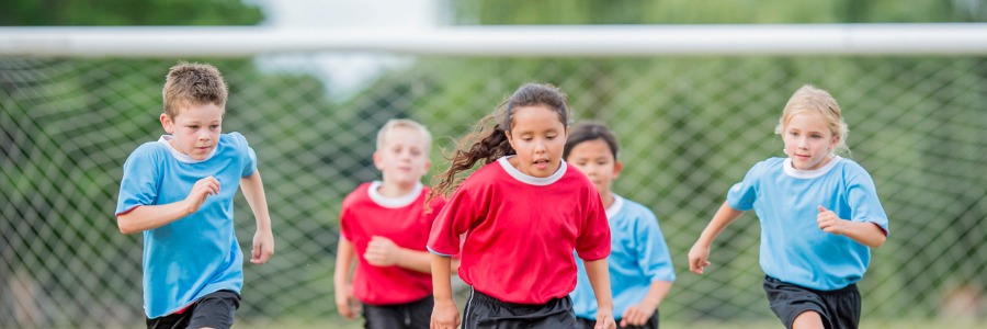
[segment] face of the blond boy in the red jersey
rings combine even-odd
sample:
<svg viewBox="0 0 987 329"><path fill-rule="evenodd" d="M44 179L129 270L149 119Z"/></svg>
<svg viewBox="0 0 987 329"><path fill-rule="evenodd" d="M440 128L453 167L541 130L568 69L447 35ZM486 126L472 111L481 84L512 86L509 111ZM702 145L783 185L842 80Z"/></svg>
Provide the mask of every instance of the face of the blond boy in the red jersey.
<svg viewBox="0 0 987 329"><path fill-rule="evenodd" d="M374 152L374 166L384 174L385 183L421 182L431 166L424 136L411 127L388 131L384 134L383 148Z"/></svg>

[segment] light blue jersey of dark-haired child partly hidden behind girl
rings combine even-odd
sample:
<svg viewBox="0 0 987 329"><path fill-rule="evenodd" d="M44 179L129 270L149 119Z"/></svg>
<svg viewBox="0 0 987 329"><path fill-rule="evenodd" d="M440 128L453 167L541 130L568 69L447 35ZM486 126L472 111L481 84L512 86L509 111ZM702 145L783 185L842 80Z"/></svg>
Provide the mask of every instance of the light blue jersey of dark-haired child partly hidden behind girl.
<svg viewBox="0 0 987 329"><path fill-rule="evenodd" d="M613 314L620 319L628 307L640 303L655 281L676 281L671 256L658 218L647 207L613 195L613 204L606 208L610 222L611 251L606 259L610 268L610 288L613 293ZM572 291L572 309L576 316L597 318L597 298L590 285L582 260L577 260L576 290Z"/></svg>

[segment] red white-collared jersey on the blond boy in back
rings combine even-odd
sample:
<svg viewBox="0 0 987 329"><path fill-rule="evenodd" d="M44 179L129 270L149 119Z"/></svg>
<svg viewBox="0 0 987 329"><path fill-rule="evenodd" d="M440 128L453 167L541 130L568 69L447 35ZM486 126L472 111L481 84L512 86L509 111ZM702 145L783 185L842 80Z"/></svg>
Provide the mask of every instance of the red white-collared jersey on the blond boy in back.
<svg viewBox="0 0 987 329"><path fill-rule="evenodd" d="M356 251L353 273L353 294L371 305L392 305L415 302L432 294L432 275L397 265L378 268L363 258L373 236L390 239L402 248L427 251L429 229L445 200L433 198L431 213L424 213L429 190L404 197L385 197L376 192L379 182L363 183L343 200L340 214L342 236Z"/></svg>

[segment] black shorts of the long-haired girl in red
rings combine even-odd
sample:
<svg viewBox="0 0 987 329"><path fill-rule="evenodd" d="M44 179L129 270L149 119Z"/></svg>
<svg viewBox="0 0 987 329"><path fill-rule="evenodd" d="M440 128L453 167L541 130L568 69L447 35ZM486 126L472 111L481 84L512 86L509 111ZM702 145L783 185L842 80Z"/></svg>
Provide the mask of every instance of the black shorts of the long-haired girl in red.
<svg viewBox="0 0 987 329"><path fill-rule="evenodd" d="M475 328L575 328L576 314L569 296L545 304L517 304L499 300L473 290L463 311L463 329Z"/></svg>

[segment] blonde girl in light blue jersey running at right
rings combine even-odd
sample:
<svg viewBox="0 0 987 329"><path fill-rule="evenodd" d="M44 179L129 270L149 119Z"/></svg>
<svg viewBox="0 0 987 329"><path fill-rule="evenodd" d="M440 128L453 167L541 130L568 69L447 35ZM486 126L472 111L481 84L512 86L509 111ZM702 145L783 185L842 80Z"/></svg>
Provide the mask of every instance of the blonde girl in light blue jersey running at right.
<svg viewBox="0 0 987 329"><path fill-rule="evenodd" d="M874 181L847 150L847 124L825 90L789 99L775 134L786 158L758 162L727 193L689 251L690 271L710 265L710 246L744 212L761 220L760 263L771 309L787 328L856 328L856 282L884 243L887 215Z"/></svg>

